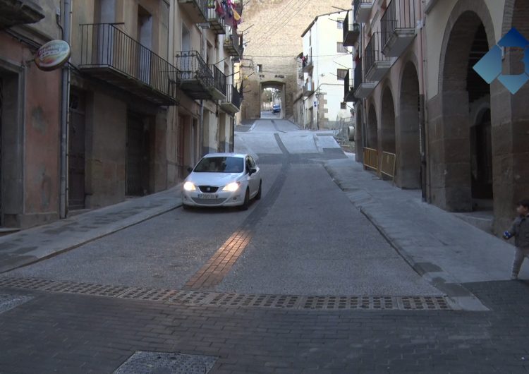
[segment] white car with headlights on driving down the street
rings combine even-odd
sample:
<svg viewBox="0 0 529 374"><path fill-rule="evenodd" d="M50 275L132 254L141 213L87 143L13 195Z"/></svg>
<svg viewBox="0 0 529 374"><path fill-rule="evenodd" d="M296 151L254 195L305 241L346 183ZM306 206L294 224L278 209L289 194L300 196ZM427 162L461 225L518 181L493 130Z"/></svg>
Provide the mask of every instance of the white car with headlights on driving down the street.
<svg viewBox="0 0 529 374"><path fill-rule="evenodd" d="M250 155L210 153L190 169L183 183L182 203L187 207L231 207L247 210L250 200L259 200L262 179Z"/></svg>

